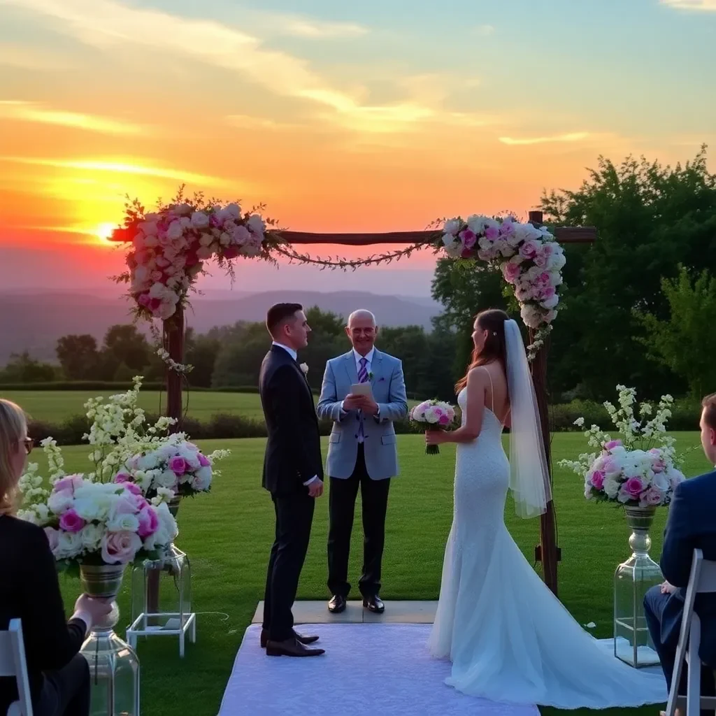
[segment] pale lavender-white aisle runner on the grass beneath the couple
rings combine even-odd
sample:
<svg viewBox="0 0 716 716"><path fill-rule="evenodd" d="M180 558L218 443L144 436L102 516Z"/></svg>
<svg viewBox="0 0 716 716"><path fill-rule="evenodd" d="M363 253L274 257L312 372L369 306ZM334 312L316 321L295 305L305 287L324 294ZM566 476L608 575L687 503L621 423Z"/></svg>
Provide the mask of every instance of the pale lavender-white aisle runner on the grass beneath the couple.
<svg viewBox="0 0 716 716"><path fill-rule="evenodd" d="M246 629L219 716L539 716L445 686L450 663L430 658L431 624L301 624L320 657L267 657L261 627Z"/></svg>

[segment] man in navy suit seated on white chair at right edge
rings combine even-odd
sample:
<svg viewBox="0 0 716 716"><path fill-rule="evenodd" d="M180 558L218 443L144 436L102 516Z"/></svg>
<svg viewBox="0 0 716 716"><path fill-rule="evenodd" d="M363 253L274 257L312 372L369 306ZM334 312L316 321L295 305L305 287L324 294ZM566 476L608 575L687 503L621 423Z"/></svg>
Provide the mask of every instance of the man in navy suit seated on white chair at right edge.
<svg viewBox="0 0 716 716"><path fill-rule="evenodd" d="M716 393L704 398L701 413L701 444L709 462L716 463ZM716 560L716 471L684 480L674 490L669 518L664 530L661 568L664 584L654 586L644 596L644 614L652 641L662 662L664 676L671 687L684 596L689 584L695 549L704 558ZM714 690L716 667L716 594L697 594L694 605L701 619L700 657L709 668L702 669L702 694ZM679 693L686 693L686 666L679 682Z"/></svg>

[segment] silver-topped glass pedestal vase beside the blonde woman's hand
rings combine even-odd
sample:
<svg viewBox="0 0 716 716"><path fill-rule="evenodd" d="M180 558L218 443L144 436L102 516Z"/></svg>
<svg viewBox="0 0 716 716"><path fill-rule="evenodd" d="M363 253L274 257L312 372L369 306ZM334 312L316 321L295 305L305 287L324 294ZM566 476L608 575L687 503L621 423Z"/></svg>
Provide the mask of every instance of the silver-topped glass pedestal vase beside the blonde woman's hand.
<svg viewBox="0 0 716 716"><path fill-rule="evenodd" d="M140 716L139 659L114 631L120 619L115 599L124 571L124 564L79 566L82 591L112 601L112 611L93 625L80 650L89 664L90 716Z"/></svg>

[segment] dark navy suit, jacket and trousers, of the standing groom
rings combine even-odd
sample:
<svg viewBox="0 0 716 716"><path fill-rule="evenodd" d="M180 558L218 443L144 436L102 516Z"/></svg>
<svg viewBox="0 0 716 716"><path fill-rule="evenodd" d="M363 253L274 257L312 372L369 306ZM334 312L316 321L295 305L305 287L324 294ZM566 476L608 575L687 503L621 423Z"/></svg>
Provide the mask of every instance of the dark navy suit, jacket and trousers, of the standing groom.
<svg viewBox="0 0 716 716"><path fill-rule="evenodd" d="M311 536L314 498L307 483L323 479L321 437L313 394L294 356L274 345L261 364L258 391L269 439L262 484L271 493L276 538L271 547L263 604L269 639L291 639L299 576Z"/></svg>

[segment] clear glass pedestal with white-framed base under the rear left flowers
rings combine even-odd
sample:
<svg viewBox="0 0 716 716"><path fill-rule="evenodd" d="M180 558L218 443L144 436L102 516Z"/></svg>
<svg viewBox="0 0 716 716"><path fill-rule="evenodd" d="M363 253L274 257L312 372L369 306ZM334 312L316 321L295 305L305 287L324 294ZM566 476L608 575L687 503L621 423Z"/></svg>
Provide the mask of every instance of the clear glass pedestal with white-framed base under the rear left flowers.
<svg viewBox="0 0 716 716"><path fill-rule="evenodd" d="M176 516L180 498L170 503ZM179 637L179 656L184 656L186 635L196 641L196 614L191 611L191 565L188 556L170 544L163 555L145 560L132 569L132 623L127 641L137 646L138 637Z"/></svg>

